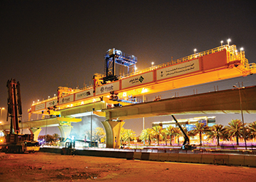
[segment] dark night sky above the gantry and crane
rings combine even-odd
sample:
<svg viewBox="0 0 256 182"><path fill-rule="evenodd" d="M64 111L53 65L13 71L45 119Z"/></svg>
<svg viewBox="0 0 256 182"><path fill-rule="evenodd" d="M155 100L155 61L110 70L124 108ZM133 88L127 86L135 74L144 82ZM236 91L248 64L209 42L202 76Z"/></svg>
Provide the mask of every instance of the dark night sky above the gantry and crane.
<svg viewBox="0 0 256 182"><path fill-rule="evenodd" d="M115 47L138 68L166 63L231 39L255 63L254 1L0 1L0 107L8 79L20 82L23 120L60 86L90 84ZM4 112L5 117L6 112Z"/></svg>

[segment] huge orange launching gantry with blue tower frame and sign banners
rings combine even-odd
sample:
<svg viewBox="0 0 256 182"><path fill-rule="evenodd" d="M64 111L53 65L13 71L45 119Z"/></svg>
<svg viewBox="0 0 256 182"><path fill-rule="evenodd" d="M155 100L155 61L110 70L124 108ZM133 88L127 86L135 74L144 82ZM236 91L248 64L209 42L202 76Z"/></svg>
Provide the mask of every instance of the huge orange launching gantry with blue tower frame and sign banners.
<svg viewBox="0 0 256 182"><path fill-rule="evenodd" d="M143 102L138 96L204 84L222 79L255 74L255 63L248 63L244 51L238 52L236 45L198 52L185 58L158 66L135 71L137 58L124 55L118 50L108 50L105 56L106 73L94 75L94 85L80 90L59 87L58 95L33 103L29 114L60 116L60 111L89 103L102 101L105 108L125 106ZM126 61L122 63L122 61ZM117 77L115 64L134 68L126 76ZM112 64L112 70L110 69ZM130 72L130 73L129 73ZM103 114L104 115L104 114Z"/></svg>

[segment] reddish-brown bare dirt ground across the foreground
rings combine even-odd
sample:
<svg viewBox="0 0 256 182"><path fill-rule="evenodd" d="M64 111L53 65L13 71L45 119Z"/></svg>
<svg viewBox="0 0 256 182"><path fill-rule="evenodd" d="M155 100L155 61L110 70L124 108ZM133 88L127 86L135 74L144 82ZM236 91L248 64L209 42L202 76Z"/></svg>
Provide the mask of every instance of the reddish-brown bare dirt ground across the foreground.
<svg viewBox="0 0 256 182"><path fill-rule="evenodd" d="M0 153L0 181L255 181L256 168Z"/></svg>

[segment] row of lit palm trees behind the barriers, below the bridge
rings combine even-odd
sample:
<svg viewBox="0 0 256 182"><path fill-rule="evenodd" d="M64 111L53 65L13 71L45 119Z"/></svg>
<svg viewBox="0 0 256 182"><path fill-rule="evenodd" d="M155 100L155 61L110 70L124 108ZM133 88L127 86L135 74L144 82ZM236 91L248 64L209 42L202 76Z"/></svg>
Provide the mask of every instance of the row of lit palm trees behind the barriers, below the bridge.
<svg viewBox="0 0 256 182"><path fill-rule="evenodd" d="M184 132L187 133L189 137L193 137L195 135L199 135L200 146L202 145L203 134L207 136L207 140L216 140L217 146L219 146L219 141L222 139L223 141L233 141L236 140L236 145L239 145L239 139L244 139L249 141L253 138L256 138L256 122L252 122L249 124L243 124L240 119L233 119L228 123L227 126L222 124L214 124L212 127L208 127L202 122L196 122L195 127L192 130L187 131L186 128L183 128ZM243 132L245 130L245 133ZM152 142L156 141L157 145L159 145L159 141L165 141L165 145L167 146L167 141L170 146L176 141L179 145L179 138L183 136L181 130L178 127L173 127L169 125L166 128L162 128L161 124L159 126L154 126L152 128L147 128L142 130L140 133L139 139L143 142L151 145ZM122 141L130 141L135 139L135 132L132 130L121 130L121 142Z"/></svg>

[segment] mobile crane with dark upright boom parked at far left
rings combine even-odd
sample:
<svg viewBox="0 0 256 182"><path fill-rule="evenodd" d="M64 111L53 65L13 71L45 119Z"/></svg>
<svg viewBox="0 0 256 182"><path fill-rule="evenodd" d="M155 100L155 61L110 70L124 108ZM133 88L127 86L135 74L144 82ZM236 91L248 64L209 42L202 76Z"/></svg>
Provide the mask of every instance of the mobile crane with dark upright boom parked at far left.
<svg viewBox="0 0 256 182"><path fill-rule="evenodd" d="M34 134L20 135L19 123L21 122L22 108L20 97L20 83L15 79L7 82L8 110L7 122L10 119L10 133L6 135L1 151L5 153L24 153L39 151L39 143L34 141Z"/></svg>

